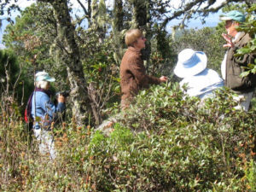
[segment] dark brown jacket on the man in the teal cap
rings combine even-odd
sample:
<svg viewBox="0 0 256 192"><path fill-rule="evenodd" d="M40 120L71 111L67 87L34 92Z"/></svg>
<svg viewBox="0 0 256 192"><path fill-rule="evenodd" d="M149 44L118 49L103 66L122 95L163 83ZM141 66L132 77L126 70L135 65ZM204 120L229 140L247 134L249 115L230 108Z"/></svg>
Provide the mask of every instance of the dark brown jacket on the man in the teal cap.
<svg viewBox="0 0 256 192"><path fill-rule="evenodd" d="M247 45L250 40L248 34L241 32L240 37L234 42L235 47L229 48L227 53L225 85L238 93L250 92L256 85L255 74L251 73L247 77L240 77L240 74L246 70L242 67L247 67L249 63L253 63L256 58L255 54L246 54L242 57L234 56L237 49Z"/></svg>

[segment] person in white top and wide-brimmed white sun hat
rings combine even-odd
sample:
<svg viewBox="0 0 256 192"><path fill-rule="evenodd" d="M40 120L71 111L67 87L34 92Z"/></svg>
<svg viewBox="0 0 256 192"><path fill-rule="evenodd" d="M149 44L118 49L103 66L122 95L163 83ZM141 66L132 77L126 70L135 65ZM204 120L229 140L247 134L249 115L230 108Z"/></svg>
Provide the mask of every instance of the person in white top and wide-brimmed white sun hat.
<svg viewBox="0 0 256 192"><path fill-rule="evenodd" d="M201 51L183 49L178 54L174 73L182 79L179 83L181 89L187 84L185 93L189 96L198 96L202 101L214 96L213 90L224 86L224 80L218 73L207 68L207 55Z"/></svg>

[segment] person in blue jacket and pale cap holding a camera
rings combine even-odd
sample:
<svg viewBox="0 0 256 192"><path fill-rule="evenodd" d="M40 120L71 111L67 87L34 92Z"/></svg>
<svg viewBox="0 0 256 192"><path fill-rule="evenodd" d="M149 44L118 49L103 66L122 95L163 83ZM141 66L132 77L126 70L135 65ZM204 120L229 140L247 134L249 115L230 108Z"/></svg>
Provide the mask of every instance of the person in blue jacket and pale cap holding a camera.
<svg viewBox="0 0 256 192"><path fill-rule="evenodd" d="M35 91L32 95L32 118L34 119L33 131L39 142L39 152L49 153L52 160L55 159L55 143L51 133L55 119L58 114L65 110L65 97L59 95L57 105L50 101L49 86L55 79L49 77L48 73L38 72L35 77Z"/></svg>

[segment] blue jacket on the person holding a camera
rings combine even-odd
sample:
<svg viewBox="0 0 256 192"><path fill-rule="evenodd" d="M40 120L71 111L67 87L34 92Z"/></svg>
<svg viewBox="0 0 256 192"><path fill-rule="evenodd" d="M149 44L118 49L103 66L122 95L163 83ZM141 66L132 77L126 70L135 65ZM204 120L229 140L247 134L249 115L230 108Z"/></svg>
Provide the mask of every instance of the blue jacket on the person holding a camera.
<svg viewBox="0 0 256 192"><path fill-rule="evenodd" d="M44 129L49 129L51 123L57 119L57 113L63 112L65 108L65 103L59 102L57 106L55 106L46 93L35 91L32 96L32 117L36 124L33 128L40 129L44 127ZM35 118L35 111L37 118Z"/></svg>

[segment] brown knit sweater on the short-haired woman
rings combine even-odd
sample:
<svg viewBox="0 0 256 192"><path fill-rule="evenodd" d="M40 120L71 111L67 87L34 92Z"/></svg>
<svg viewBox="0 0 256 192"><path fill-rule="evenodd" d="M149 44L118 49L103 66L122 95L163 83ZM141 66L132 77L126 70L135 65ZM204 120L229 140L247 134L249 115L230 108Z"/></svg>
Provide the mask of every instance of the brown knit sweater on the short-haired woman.
<svg viewBox="0 0 256 192"><path fill-rule="evenodd" d="M149 84L160 84L160 79L147 75L140 51L128 47L120 66L120 84L123 101L136 96L139 90L148 88Z"/></svg>

